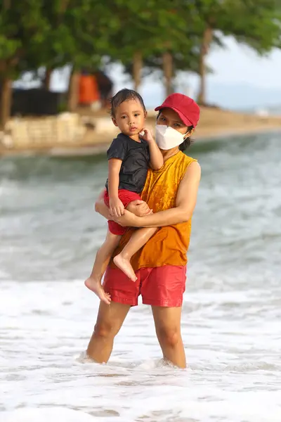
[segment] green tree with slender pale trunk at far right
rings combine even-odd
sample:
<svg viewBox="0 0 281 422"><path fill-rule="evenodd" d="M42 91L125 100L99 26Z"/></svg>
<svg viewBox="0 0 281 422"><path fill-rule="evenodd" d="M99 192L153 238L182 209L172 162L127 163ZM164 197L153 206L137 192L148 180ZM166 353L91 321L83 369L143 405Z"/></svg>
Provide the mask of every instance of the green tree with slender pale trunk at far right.
<svg viewBox="0 0 281 422"><path fill-rule="evenodd" d="M280 47L280 8L277 0L195 0L200 46L200 91L198 102L206 103L206 57L211 44L222 45L223 35L259 53Z"/></svg>

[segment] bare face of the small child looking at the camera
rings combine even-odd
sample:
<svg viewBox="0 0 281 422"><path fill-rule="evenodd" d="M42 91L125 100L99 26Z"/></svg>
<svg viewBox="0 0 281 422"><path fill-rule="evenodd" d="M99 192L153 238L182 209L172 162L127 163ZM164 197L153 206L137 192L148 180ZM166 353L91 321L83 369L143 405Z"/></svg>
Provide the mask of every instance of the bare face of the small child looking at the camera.
<svg viewBox="0 0 281 422"><path fill-rule="evenodd" d="M143 130L146 114L138 100L128 100L117 107L112 122L123 134L133 137Z"/></svg>

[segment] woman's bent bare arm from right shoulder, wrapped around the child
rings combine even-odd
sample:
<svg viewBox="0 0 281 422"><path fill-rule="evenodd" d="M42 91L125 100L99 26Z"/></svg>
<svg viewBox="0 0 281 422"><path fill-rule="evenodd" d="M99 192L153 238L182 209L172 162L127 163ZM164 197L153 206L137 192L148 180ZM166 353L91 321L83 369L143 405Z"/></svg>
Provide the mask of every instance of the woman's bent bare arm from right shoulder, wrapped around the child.
<svg viewBox="0 0 281 422"><path fill-rule="evenodd" d="M133 227L162 227L188 222L195 209L200 177L200 165L198 162L192 162L178 187L176 207L145 217L138 217L125 210L124 215L118 217L115 221L122 226Z"/></svg>

